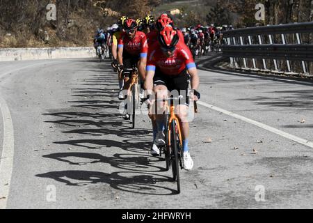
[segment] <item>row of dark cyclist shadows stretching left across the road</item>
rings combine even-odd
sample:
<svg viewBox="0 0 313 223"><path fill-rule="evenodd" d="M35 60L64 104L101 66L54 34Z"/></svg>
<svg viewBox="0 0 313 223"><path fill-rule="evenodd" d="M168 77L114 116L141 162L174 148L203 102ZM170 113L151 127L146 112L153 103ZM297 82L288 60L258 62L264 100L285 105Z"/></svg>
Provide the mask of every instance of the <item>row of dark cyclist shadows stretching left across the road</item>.
<svg viewBox="0 0 313 223"><path fill-rule="evenodd" d="M58 145L58 148L61 146L64 151L68 151L67 148L70 146L99 153L61 152L43 155L43 158L65 162L72 167L92 168L96 164L109 164L110 167L122 171L102 173L75 169L50 171L36 176L51 178L71 186L106 183L116 190L137 194L177 194L175 190L158 185L171 182L172 178L157 174L165 171L163 167L165 162L162 158L152 157L149 153L152 146L152 130L143 128L132 130L130 125L127 126L129 122L122 120L118 112L119 102L112 99L117 99L118 96L117 77L113 80L111 74L98 75L98 72L104 70L101 63L93 66L88 64L90 61L81 63L85 63L84 68L90 68L92 71L88 78L80 79L81 87L71 89L72 99L67 101L70 107L65 112L64 109L54 109L42 115L49 117L45 123L52 123L56 129L61 129L62 134L72 138L54 141L53 144ZM116 87L112 86L113 83ZM106 139L102 139L104 136ZM77 137L79 139L74 139ZM114 155L104 155L106 150L113 151Z"/></svg>

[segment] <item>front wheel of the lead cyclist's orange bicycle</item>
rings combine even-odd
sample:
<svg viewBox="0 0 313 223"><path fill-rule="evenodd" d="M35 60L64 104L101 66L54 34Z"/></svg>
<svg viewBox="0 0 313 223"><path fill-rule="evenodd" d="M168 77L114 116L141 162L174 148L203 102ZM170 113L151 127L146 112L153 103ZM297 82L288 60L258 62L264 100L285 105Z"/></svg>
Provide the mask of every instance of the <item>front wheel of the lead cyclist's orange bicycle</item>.
<svg viewBox="0 0 313 223"><path fill-rule="evenodd" d="M178 145L177 145L177 127L175 121L172 121L171 131L171 162L172 162L172 179L177 182L177 194L180 194L180 179L179 179L179 159L178 159Z"/></svg>

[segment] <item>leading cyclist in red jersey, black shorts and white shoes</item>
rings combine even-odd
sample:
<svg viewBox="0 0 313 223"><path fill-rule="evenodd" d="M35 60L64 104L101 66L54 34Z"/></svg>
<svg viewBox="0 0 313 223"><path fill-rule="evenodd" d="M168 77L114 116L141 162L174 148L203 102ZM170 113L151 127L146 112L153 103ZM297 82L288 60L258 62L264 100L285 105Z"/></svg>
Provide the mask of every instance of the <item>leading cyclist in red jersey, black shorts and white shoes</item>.
<svg viewBox="0 0 313 223"><path fill-rule="evenodd" d="M157 93L158 99L168 98L169 91L179 91L184 100L177 106L177 116L182 126L184 169L193 168L193 160L188 148L189 125L188 114L188 74L191 76L191 87L194 90L192 100L200 99L200 93L196 91L199 87L197 68L188 47L179 41L177 30L172 26L164 27L158 36L159 42L149 48L145 89L147 93ZM188 71L188 74L187 74ZM150 101L151 103L151 101ZM163 111L163 103L157 103L160 111ZM165 129L164 117L157 115L157 128L159 132ZM165 140L164 140L165 141ZM154 150L155 149L155 150ZM159 155L158 148L153 148L152 155Z"/></svg>

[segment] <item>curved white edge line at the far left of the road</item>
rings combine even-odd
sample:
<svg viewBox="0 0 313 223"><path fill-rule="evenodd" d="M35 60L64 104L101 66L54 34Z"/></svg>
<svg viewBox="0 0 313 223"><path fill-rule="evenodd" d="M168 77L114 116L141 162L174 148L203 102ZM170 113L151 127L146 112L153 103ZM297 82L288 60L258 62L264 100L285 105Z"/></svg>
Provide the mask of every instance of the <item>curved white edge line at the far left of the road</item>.
<svg viewBox="0 0 313 223"><path fill-rule="evenodd" d="M5 209L13 171L14 132L10 110L6 105L6 101L1 97L0 109L3 118L3 150L0 160L0 209Z"/></svg>

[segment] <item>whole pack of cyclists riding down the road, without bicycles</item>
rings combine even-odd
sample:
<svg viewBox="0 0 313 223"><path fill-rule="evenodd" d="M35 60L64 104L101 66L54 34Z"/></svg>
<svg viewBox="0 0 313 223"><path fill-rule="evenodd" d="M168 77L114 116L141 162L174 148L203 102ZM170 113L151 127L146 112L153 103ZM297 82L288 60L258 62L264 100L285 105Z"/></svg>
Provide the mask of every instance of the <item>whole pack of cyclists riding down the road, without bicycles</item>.
<svg viewBox="0 0 313 223"><path fill-rule="evenodd" d="M109 46L112 57L112 67L118 72L120 93L118 98L125 100L123 89L128 89L129 75L136 67L141 80L141 98L147 98L157 110L163 109L161 103L154 103L151 98L168 98L168 91L178 91L184 98L177 106L177 116L182 126L184 150L184 169L193 169L193 160L188 147L188 106L189 99L199 100L199 77L194 62L195 54L202 54L214 41L223 43L223 31L232 26L185 27L178 29L172 17L162 14L157 19L146 15L143 19L120 17L106 33L97 30L94 39L96 43ZM145 93L145 94L144 94ZM160 104L160 105L159 105ZM149 114L152 119L153 141L151 154L160 154L160 146L165 144L164 118L159 114ZM128 119L127 108L123 118Z"/></svg>

